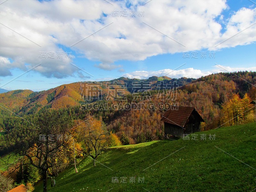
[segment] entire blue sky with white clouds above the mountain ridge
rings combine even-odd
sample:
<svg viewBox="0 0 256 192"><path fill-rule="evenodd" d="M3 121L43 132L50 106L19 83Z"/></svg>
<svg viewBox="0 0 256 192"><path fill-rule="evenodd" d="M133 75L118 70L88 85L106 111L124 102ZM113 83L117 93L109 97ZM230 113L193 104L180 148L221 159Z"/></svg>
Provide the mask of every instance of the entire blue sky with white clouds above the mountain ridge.
<svg viewBox="0 0 256 192"><path fill-rule="evenodd" d="M0 4L0 88L256 70L249 0L108 2Z"/></svg>

